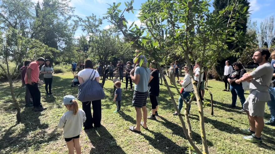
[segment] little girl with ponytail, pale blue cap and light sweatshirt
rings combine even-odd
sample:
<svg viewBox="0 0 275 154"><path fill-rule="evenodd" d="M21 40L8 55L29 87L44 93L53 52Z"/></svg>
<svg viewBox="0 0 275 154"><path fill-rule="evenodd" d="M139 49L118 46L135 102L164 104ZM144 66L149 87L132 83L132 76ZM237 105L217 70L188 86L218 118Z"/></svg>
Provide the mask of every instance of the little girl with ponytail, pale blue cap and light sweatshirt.
<svg viewBox="0 0 275 154"><path fill-rule="evenodd" d="M78 109L78 102L72 95L64 96L63 104L68 111L60 118L58 128L63 128L63 135L69 149L69 154L74 153L74 148L77 154L81 154L79 135L82 125L86 121L85 112Z"/></svg>

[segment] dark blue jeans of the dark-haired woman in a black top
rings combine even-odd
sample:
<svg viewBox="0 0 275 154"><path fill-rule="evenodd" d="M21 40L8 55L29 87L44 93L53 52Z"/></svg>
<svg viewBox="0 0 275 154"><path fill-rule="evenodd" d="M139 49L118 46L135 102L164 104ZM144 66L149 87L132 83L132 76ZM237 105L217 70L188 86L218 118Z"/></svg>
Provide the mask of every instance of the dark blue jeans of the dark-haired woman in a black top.
<svg viewBox="0 0 275 154"><path fill-rule="evenodd" d="M232 94L232 106L236 106L237 96L241 101L241 104L245 102L244 90L242 89L242 85L230 85L230 91Z"/></svg>

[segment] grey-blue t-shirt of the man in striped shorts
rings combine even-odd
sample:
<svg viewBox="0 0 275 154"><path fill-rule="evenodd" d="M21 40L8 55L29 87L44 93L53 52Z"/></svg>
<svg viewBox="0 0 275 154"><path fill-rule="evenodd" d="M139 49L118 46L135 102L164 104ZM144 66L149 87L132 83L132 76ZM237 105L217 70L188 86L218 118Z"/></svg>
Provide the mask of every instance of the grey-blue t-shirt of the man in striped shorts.
<svg viewBox="0 0 275 154"><path fill-rule="evenodd" d="M148 91L148 82L150 79L150 70L145 67L137 67L134 75L139 74L139 82L135 85L135 91L146 92Z"/></svg>

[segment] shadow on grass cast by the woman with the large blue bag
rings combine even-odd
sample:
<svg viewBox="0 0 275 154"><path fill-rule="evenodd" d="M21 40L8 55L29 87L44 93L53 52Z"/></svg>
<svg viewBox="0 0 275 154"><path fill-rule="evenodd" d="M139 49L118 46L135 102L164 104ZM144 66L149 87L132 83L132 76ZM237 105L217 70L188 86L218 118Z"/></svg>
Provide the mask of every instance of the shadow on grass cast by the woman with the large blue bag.
<svg viewBox="0 0 275 154"><path fill-rule="evenodd" d="M85 133L93 145L90 153L125 154L123 149L118 146L116 140L103 125L98 129L85 130Z"/></svg>

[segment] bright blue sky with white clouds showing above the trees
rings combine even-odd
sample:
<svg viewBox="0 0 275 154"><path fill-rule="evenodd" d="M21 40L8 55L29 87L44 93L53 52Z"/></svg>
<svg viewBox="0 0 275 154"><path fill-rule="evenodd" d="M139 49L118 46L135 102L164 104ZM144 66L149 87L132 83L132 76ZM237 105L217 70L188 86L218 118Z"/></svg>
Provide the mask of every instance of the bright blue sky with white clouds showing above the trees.
<svg viewBox="0 0 275 154"><path fill-rule="evenodd" d="M37 2L38 0L32 0L34 2ZM126 0L127 1L127 0ZM98 17L103 17L104 13L107 12L107 8L109 7L106 3L113 3L113 2L122 2L121 8L124 8L124 2L125 0L71 0L70 6L75 7L75 14L84 18L85 16L89 16L95 14ZM137 9L134 14L127 13L125 14L125 18L128 20L129 24L131 24L133 21L135 23L140 23L138 20L138 9L140 8L141 4L143 2L146 2L147 0L135 0L133 3L134 9ZM213 1L213 0L212 0ZM41 0L40 0L41 2ZM212 3L212 2L211 2ZM257 21L257 25L260 24L262 20L265 18L275 15L275 0L250 0L250 13L251 13L251 19L252 21ZM213 8L211 8L212 10ZM103 21L102 28L108 28L109 27L108 21ZM80 35L84 34L81 29L79 28L76 33L75 37L79 37Z"/></svg>

